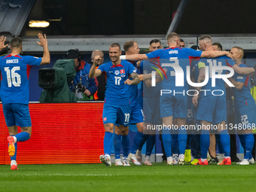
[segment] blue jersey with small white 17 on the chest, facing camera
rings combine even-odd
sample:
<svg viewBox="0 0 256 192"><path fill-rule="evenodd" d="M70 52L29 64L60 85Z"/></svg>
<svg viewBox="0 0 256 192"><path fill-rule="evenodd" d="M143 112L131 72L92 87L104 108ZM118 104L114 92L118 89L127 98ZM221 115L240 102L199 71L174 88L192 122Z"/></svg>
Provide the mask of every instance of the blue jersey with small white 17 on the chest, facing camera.
<svg viewBox="0 0 256 192"><path fill-rule="evenodd" d="M113 105L130 105L130 85L124 84L133 72L136 72L134 66L126 60L114 66L112 62L102 64L98 68L107 74L105 103Z"/></svg>

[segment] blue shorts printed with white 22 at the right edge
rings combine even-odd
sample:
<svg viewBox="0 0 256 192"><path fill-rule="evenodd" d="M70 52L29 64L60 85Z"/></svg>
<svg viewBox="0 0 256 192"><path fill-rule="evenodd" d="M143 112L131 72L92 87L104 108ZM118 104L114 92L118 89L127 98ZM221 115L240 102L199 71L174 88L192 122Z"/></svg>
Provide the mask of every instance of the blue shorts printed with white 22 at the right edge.
<svg viewBox="0 0 256 192"><path fill-rule="evenodd" d="M256 105L245 105L235 108L235 123L233 127L237 129L247 129L255 127L256 124Z"/></svg>

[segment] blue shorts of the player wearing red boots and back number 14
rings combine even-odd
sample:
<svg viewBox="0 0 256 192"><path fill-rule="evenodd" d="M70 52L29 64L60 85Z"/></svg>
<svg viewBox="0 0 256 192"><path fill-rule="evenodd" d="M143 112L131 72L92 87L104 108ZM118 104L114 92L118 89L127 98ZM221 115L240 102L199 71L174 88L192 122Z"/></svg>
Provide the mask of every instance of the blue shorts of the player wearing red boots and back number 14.
<svg viewBox="0 0 256 192"><path fill-rule="evenodd" d="M197 109L197 120L217 124L227 120L226 96L203 96Z"/></svg>

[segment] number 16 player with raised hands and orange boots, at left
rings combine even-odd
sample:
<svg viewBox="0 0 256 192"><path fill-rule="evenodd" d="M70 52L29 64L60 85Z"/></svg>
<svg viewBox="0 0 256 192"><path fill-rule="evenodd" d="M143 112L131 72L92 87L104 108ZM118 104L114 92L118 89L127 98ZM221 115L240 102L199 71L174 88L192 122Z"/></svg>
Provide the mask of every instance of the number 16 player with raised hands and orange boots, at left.
<svg viewBox="0 0 256 192"><path fill-rule="evenodd" d="M8 153L11 156L11 169L18 169L17 142L25 142L31 137L32 124L29 114L29 72L32 66L50 63L50 53L47 47L46 35L38 34L38 45L44 48L42 58L21 56L22 40L15 37L11 40L11 54L0 57L1 100L8 126ZM18 133L20 126L21 133Z"/></svg>

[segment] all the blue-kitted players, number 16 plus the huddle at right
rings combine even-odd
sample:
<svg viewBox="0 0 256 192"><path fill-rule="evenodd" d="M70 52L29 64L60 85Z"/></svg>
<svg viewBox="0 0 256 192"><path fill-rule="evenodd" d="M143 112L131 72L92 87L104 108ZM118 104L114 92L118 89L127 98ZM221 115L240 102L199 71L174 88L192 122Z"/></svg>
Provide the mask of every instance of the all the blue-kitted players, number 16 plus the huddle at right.
<svg viewBox="0 0 256 192"><path fill-rule="evenodd" d="M11 54L0 59L1 99L10 133L8 152L11 169L17 169L17 142L24 142L31 135L28 71L32 66L50 63L46 36L39 34L38 38L38 44L44 47L42 58L20 56L22 41L14 38L11 41ZM121 56L120 44L114 43L109 47L111 61L100 65L98 69L96 66L102 56L95 56L89 77L96 78L102 72L107 76L102 112L105 154L99 157L102 163L111 166L111 147L114 145L116 166L130 166L130 162L142 165L142 146L147 142L144 164L152 165L150 156L157 132L148 130L148 127L160 123L164 125L161 137L168 165L184 164L187 141L194 134L197 134L197 150L200 151L200 157L197 157L199 160L194 164L208 165L211 125L217 127L220 138L218 148L223 154L223 160L218 164L230 165L230 136L225 126L227 86L235 87L236 123L244 128L237 130L245 149L245 157L239 164L254 163L251 151L254 145L252 129L256 123L256 105L249 89L249 75L254 73L254 69L242 63L244 53L241 47L233 47L230 52L215 51L209 35L203 35L199 40L200 50L183 48L179 35L172 32L167 37L168 48L163 49L161 42L154 39L150 42L151 53L147 54L139 54L136 41L127 41L123 45L125 56ZM0 50L6 46L5 38L1 37ZM189 80L187 74L190 74ZM143 81L140 93L143 102L138 96L137 85L140 81ZM216 90L222 94L216 94ZM202 131L194 133L186 130L186 123L194 124L196 119L200 121ZM131 149L130 124L136 124L138 129ZM173 125L177 129L164 129L173 128ZM17 133L17 126L21 127L21 133Z"/></svg>

